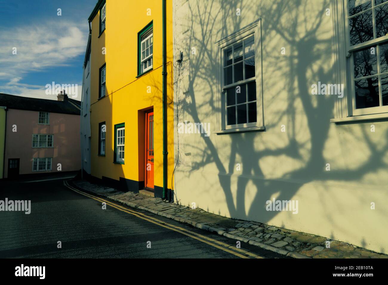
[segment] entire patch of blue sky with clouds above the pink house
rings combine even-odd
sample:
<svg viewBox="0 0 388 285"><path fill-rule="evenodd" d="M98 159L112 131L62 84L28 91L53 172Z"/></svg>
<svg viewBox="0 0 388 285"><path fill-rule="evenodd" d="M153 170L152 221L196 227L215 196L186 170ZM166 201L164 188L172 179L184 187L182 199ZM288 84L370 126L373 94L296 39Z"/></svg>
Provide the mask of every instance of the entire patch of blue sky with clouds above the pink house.
<svg viewBox="0 0 388 285"><path fill-rule="evenodd" d="M96 3L0 0L0 93L56 100L45 93L45 85L54 81L78 84L75 99L81 100L88 17Z"/></svg>

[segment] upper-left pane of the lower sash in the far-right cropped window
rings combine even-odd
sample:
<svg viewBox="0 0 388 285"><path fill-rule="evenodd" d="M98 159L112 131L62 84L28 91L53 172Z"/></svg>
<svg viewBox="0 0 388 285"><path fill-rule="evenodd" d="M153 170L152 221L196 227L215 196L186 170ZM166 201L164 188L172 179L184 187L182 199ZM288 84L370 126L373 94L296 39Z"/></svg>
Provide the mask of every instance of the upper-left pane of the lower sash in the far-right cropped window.
<svg viewBox="0 0 388 285"><path fill-rule="evenodd" d="M377 73L376 47L371 54L371 47L353 53L354 78L369 76Z"/></svg>

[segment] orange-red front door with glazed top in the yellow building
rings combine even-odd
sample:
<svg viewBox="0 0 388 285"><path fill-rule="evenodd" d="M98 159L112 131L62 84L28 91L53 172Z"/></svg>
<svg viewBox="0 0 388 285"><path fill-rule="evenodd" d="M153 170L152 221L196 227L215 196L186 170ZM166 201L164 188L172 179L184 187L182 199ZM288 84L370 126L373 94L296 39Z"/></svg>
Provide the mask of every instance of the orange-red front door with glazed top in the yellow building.
<svg viewBox="0 0 388 285"><path fill-rule="evenodd" d="M154 188L154 112L145 114L145 187Z"/></svg>

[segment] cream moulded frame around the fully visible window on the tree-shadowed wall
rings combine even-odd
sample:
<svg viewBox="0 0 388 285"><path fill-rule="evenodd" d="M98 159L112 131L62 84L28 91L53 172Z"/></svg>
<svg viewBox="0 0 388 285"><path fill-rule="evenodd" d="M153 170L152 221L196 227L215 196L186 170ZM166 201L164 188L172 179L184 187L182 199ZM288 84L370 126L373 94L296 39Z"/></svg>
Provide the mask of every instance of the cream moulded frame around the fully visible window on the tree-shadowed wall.
<svg viewBox="0 0 388 285"><path fill-rule="evenodd" d="M224 67L224 55L223 50L231 46L233 43L242 41L249 36L255 36L255 82L256 82L256 122L255 123L246 123L246 124L234 124L227 126L226 118L226 92L223 90L224 86L224 77L223 77L223 67ZM263 117L263 92L262 92L262 70L261 70L261 61L262 61L262 47L261 47L261 19L257 19L248 26L232 33L231 35L219 40L215 43L215 55L216 55L216 66L217 66L217 90L216 90L216 104L217 109L221 110L217 112L217 130L213 133L222 134L222 133L234 133L240 131L257 131L265 130L264 127L264 117ZM242 80L236 83L227 85L229 86L238 86L247 83L252 80ZM236 122L237 123L237 122Z"/></svg>

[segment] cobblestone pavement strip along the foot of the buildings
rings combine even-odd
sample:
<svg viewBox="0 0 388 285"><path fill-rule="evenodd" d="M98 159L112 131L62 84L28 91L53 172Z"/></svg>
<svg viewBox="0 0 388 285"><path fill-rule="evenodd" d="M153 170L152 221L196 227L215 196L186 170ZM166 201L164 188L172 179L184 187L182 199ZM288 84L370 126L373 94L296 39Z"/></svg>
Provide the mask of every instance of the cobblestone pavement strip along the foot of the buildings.
<svg viewBox="0 0 388 285"><path fill-rule="evenodd" d="M71 184L85 192L107 197L129 207L149 211L286 256L295 258L388 258L386 254L372 252L346 242L254 221L225 218L202 209L191 209L187 206L164 202L161 198L121 192L87 181L73 180ZM327 241L329 241L330 248L326 247Z"/></svg>

